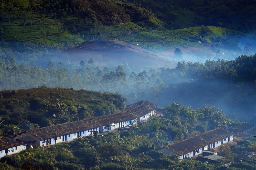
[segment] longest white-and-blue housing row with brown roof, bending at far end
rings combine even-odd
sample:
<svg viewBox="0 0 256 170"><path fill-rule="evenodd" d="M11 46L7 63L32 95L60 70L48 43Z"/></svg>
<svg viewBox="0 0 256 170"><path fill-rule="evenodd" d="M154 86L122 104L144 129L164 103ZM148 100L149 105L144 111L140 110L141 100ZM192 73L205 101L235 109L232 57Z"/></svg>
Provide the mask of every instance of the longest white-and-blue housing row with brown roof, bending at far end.
<svg viewBox="0 0 256 170"><path fill-rule="evenodd" d="M13 137L14 141L32 146L49 146L80 137L104 133L117 128L132 126L145 122L153 116L155 104L146 100L130 105L125 112L93 117L89 119L51 125L43 128L24 131Z"/></svg>

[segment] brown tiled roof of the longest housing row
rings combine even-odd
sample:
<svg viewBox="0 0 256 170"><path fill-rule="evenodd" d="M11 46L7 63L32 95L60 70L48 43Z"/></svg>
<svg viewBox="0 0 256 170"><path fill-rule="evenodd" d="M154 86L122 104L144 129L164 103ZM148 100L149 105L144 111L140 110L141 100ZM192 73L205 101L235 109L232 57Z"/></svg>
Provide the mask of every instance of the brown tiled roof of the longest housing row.
<svg viewBox="0 0 256 170"><path fill-rule="evenodd" d="M112 123L118 123L126 120L132 120L137 118L138 116L144 116L150 111L153 111L155 108L155 104L150 103L148 101L140 101L129 107L129 110L122 113L115 113L110 115L104 115L99 117L93 117L89 119L63 123L58 125L51 125L43 128L27 130L22 133L28 133L33 136L36 136L38 139L47 139L55 137L55 129L56 135L66 135L71 133L76 133L79 131L90 130L93 128L97 128L101 125L111 125Z"/></svg>

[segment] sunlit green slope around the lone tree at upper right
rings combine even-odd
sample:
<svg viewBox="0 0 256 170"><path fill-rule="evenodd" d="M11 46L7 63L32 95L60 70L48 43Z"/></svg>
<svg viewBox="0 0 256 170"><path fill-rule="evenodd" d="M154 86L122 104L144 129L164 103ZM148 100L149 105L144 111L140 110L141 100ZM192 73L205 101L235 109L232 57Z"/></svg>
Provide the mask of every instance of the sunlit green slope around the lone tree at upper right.
<svg viewBox="0 0 256 170"><path fill-rule="evenodd" d="M155 52L161 52L175 47L202 47L203 44L199 44L197 41L199 38L199 30L201 27L190 27L179 29L175 31L142 31L138 34L133 34L125 37L121 37L121 40L128 41L131 44L139 43L140 46L148 48ZM206 40L209 43L215 43L216 40L229 41L232 45L237 44L237 41L231 37L244 35L239 31L234 31L220 27L209 27L212 33L207 36Z"/></svg>

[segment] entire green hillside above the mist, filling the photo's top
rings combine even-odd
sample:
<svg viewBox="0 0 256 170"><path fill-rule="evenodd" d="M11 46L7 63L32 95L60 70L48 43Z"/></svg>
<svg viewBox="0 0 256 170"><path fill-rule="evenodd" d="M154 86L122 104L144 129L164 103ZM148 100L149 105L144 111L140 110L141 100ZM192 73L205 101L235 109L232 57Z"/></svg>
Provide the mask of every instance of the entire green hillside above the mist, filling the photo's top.
<svg viewBox="0 0 256 170"><path fill-rule="evenodd" d="M62 51L92 40L117 38L131 44L139 43L153 52L177 47L200 48L210 43L214 45L214 53L232 50L240 55L239 41L248 37L255 39L251 34L255 29L255 4L244 1L242 5L234 5L237 3L235 0L2 2L1 45L13 52L30 54L31 49L23 46L37 43L46 46L49 54L42 53L49 56L55 50ZM206 39L199 34L201 25L211 31ZM198 44L198 40L207 43ZM254 50L248 51L247 55L251 54ZM41 53L36 55L42 57Z"/></svg>

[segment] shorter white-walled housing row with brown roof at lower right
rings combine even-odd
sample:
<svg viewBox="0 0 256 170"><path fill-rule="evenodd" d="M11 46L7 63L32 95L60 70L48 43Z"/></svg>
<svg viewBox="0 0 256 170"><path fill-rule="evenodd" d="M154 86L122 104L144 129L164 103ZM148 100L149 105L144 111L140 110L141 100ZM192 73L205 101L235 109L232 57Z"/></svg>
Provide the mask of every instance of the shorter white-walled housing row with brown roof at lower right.
<svg viewBox="0 0 256 170"><path fill-rule="evenodd" d="M178 155L180 159L184 159L194 157L204 150L219 147L230 141L233 141L232 133L218 128L157 150L170 155Z"/></svg>

